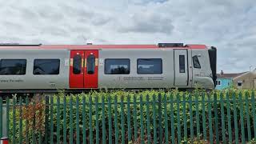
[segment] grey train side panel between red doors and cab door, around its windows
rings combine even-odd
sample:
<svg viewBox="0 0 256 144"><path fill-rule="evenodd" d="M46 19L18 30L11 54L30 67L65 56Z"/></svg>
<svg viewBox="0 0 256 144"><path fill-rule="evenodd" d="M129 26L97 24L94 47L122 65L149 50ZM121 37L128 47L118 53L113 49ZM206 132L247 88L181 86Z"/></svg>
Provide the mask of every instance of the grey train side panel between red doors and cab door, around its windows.
<svg viewBox="0 0 256 144"><path fill-rule="evenodd" d="M106 74L106 61L130 59L130 74ZM138 58L161 58L162 74L138 74ZM99 88L170 88L174 86L174 50L99 50Z"/></svg>

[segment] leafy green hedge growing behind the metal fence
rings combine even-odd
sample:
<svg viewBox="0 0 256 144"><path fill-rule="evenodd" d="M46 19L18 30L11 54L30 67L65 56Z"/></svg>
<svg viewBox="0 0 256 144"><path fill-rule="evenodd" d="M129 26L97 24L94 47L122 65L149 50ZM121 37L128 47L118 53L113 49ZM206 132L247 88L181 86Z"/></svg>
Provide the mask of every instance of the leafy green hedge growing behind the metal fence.
<svg viewBox="0 0 256 144"><path fill-rule="evenodd" d="M128 112L128 99L130 99L130 126L131 126L131 136L132 136L132 142L136 142L137 139L134 139L134 122L137 122L137 129L138 129L138 138L142 138L142 129L141 129L141 122L143 125L143 132L144 132L144 138L147 138L146 134L146 128L147 128L147 122L150 122L150 138L153 138L154 136L154 128L158 128L159 126L162 126L163 130L163 135L162 138L164 139L164 134L165 130L168 130L168 135L170 138L171 134L171 125L170 122L173 117L174 121L174 131L175 131L175 138L178 138L177 130L178 130L178 120L180 122L179 130L182 132L180 137L184 137L184 124L187 126L187 135L188 138L190 138L190 126L194 128L194 135L197 134L197 125L199 125L199 130L200 133L202 134L202 129L203 129L203 122L205 120L206 122L206 132L209 134L209 120L212 120L212 127L213 127L213 134L217 130L215 130L216 123L215 121L215 114L214 114L214 107L217 108L218 110L218 134L219 138L222 139L222 119L221 119L221 106L223 104L223 111L225 115L225 126L227 130L227 123L228 119L226 117L227 111L230 110L230 123L231 123L231 130L232 134L234 132L234 108L237 110L237 116L238 116L238 128L239 128L239 134L241 132L241 127L240 127L240 114L243 114L243 122L245 123L245 130L246 128L246 122L247 122L247 117L246 117L246 103L245 101L241 100L246 100L246 98L251 98L251 93L252 90L243 90L243 91L238 91L238 90L225 90L225 91L212 91L212 92L205 92L202 90L194 90L193 92L187 92L187 91L178 91L178 90L170 90L170 91L163 91L163 90L145 90L141 92L132 92L132 91L123 91L123 90L118 90L118 91L91 91L88 94L70 94L70 95L65 95L64 93L57 94L52 97L54 106L53 109L51 110L51 107L49 106L49 111L52 112L53 114L53 126L54 126L54 142L56 142L57 138L57 125L58 125L58 118L57 118L57 113L58 113L58 106L56 105L58 100L60 102L59 105L59 130L61 134L61 139L63 138L62 132L64 130L64 127L66 128L67 131L67 141L69 142L69 137L70 137L70 126L73 127L73 137L74 141L75 138L77 137L76 134L76 126L77 126L77 116L76 113L78 112L78 126L79 126L79 137L80 141L82 141L82 132L83 132L83 123L82 123L82 113L84 113L85 119L86 119L86 124L84 127L86 127L86 139L89 139L89 134L90 130L92 130L92 134L95 140L96 138L96 123L98 124L98 137L102 139L102 126L106 126L106 140L109 138L108 130L109 130L109 122L108 119L109 117L111 118L111 129L112 129L112 134L110 134L113 138L117 137L115 134L115 128L118 128L118 142L121 142L122 138L122 116L124 120L124 128L125 128L125 141L128 143L128 131L127 131L127 118L129 115ZM158 96L161 97L158 97ZM215 95L215 99L214 99ZM241 96L239 99L239 95ZM58 99L59 98L59 99ZM63 118L63 110L64 110L64 99L66 98L66 123L64 123L64 118ZM160 99L158 99L160 98ZM202 98L204 98L205 104L202 104ZM220 102L220 100L224 99L223 102ZM228 109L228 105L226 102L226 98L230 98L230 107ZM235 105L233 98L236 100ZM43 98L45 99L45 98ZM155 105L153 105L153 101L155 99ZM91 108L90 108L90 100L91 100ZM142 100L142 101L141 101ZM161 105L159 105L158 101L161 100ZM185 106L183 105L183 101L185 102ZM216 100L216 102L214 102ZM98 101L98 109L96 106L96 103ZM111 110L110 110L110 115L108 114L108 101L111 102ZM118 105L115 105L115 101L118 103ZM122 102L121 102L122 101ZM149 103L149 106L146 105L146 103ZM171 105L171 101L173 102ZM251 100L248 100L250 103L248 104L248 118L250 119L250 130L252 130L251 134L254 134L253 132L253 120L254 116L252 113L252 102ZM72 110L73 113L70 114L70 102L72 103ZM77 105L78 102L78 106ZM83 111L83 103L85 102L85 110ZM136 103L136 106L134 106L134 102ZM45 104L45 101L38 101L36 103L41 103ZM102 103L104 103L105 109L102 110ZM140 103L142 103L142 106L140 106ZM197 105L198 103L198 105ZM123 104L123 109L121 105ZM214 106L215 104L215 106ZM40 105L41 106L41 105ZM159 107L160 106L160 107ZM165 107L166 106L166 107ZM46 110L46 106L41 106L40 107L43 111ZM142 109L141 109L142 108ZM148 110L147 110L148 108ZM161 110L159 110L161 108ZM90 111L91 109L91 111ZM22 110L26 110L26 106L22 107ZM37 110L37 109L35 109ZM38 111L42 111L38 110ZM116 110L116 111L115 111ZM134 113L136 110L136 113ZM154 111L155 110L155 111ZM186 112L183 114L183 110ZM198 113L196 112L198 110ZM206 119L202 119L202 111L205 110L205 117ZM104 111L104 116L103 116L103 111ZM241 113L240 113L241 111ZM97 114L98 112L98 114ZM142 113L141 113L142 112ZM147 113L148 112L148 113ZM155 113L154 113L155 112ZM161 112L162 115L162 122L160 122L159 125L159 112ZM172 114L173 112L173 114ZM90 126L90 113L91 113L91 126ZM14 129L14 123L12 122L12 111L10 110L10 130ZM142 116L140 115L142 114ZM154 126L154 114L155 114L155 122L156 126ZM192 121L190 121L190 115L192 115ZM196 115L198 114L198 119ZM209 114L211 114L211 118L209 118ZM72 122L70 123L70 115ZM49 126L48 132L46 133L44 129L42 130L42 126L44 127L44 118L46 114L35 114L35 118L39 118L38 121L35 121L35 126L32 128L30 127L30 130L26 130L26 120L30 121L31 119L25 118L22 120L22 131L23 131L23 138L26 137L26 134L29 135L29 139L31 141L32 139L32 134L35 134L36 138L39 138L39 135L42 135L42 139L46 136L45 134L48 134L48 137L50 138L50 114L49 114L49 120L46 126ZM186 117L186 122L184 122L184 119ZM16 118L19 117L19 110L16 110ZM42 118L43 117L43 118ZM147 119L149 117L149 119ZM116 118L116 119L115 119ZM141 119L142 118L142 119ZM168 128L165 127L165 118L167 119L168 122ZM102 120L105 120L105 123L102 123ZM114 126L114 120L117 120L117 127ZM142 121L141 121L142 120ZM41 121L41 122L40 122ZM192 123L191 123L192 122ZM41 124L37 126L37 123ZM92 129L90 129L92 127ZM166 129L165 129L166 128ZM19 138L19 133L18 130L20 130L18 126L18 121L16 122L15 126L16 133L14 134L12 131L10 131L10 138ZM158 131L158 130L157 130ZM36 132L36 133L34 133ZM214 138L216 135L214 135ZM49 139L48 138L48 139ZM159 138L159 136L158 136ZM226 138L228 138L228 134L226 134ZM208 135L207 135L207 139ZM170 140L170 139L169 139ZM178 139L176 139L178 140Z"/></svg>

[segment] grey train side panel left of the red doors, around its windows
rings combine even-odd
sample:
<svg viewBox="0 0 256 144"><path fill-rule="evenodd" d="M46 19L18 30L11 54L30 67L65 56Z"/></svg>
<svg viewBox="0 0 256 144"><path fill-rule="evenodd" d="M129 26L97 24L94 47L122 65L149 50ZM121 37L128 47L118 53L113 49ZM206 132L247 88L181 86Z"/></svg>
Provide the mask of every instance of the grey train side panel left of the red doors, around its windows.
<svg viewBox="0 0 256 144"><path fill-rule="evenodd" d="M0 50L0 59L26 59L26 74L0 75L1 90L69 88L69 50ZM59 74L34 74L35 59L59 59Z"/></svg>

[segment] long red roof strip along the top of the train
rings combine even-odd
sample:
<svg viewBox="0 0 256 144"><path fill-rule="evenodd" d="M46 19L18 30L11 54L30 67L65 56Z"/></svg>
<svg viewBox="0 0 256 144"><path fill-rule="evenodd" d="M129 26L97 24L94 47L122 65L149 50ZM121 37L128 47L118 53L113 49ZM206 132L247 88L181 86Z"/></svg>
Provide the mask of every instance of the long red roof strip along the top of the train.
<svg viewBox="0 0 256 144"><path fill-rule="evenodd" d="M158 43L158 45L24 45L24 44L0 44L0 50L21 49L21 50L90 50L90 49L207 49L206 45L185 45L183 43Z"/></svg>

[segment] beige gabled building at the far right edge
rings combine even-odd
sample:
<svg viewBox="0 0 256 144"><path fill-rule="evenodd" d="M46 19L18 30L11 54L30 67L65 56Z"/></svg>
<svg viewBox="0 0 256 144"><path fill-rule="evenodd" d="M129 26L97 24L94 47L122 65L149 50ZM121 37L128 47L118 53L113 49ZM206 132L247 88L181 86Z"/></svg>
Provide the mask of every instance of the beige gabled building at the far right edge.
<svg viewBox="0 0 256 144"><path fill-rule="evenodd" d="M236 76L233 83L238 89L256 89L256 69Z"/></svg>

